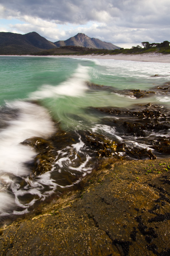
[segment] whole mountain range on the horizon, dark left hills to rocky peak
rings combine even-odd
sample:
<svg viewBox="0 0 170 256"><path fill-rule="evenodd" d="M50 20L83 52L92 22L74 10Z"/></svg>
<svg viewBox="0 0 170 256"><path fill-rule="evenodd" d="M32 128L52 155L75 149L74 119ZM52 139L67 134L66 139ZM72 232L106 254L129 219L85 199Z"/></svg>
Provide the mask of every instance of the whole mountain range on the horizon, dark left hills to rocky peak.
<svg viewBox="0 0 170 256"><path fill-rule="evenodd" d="M83 33L78 33L76 36L72 36L65 41L53 43L36 32L30 32L24 35L0 32L0 55L24 55L68 45L107 50L120 49L120 47L114 44L103 42L94 37L90 38Z"/></svg>

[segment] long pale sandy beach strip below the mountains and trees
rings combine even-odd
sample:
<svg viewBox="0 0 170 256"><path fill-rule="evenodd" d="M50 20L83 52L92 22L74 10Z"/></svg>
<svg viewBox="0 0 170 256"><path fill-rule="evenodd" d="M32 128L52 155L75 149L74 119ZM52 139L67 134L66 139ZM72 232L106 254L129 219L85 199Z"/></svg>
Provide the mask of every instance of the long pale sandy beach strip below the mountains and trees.
<svg viewBox="0 0 170 256"><path fill-rule="evenodd" d="M104 59L104 60L128 60L140 62L170 63L170 54L143 53L143 54L115 54L115 55L0 55L2 57L50 57L50 58L83 58L83 59Z"/></svg>

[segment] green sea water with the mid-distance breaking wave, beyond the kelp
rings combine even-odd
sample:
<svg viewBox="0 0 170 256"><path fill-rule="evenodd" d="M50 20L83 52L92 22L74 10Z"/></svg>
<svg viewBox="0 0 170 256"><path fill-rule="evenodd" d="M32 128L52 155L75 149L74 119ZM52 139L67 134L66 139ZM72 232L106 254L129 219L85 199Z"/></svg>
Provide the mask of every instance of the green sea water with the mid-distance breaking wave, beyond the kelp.
<svg viewBox="0 0 170 256"><path fill-rule="evenodd" d="M158 76L154 77L156 74ZM113 86L118 90L145 90L168 81L170 73L169 64L166 63L1 56L0 77L1 105L16 99L38 99L52 111L53 117L62 120L65 119L65 112L76 114L89 106L127 107L135 104L133 98L122 98L108 91L81 90L81 85L78 84L80 80L81 83L90 81ZM67 84L67 92L64 92L64 87L61 88L58 97L57 87L62 87L64 83ZM48 96L47 92L51 92L51 95ZM147 100L138 100L138 103L145 101ZM164 99L163 101L166 102Z"/></svg>

